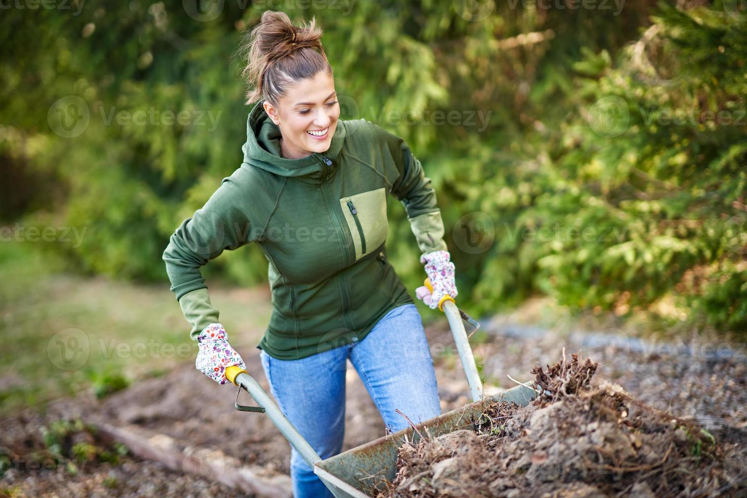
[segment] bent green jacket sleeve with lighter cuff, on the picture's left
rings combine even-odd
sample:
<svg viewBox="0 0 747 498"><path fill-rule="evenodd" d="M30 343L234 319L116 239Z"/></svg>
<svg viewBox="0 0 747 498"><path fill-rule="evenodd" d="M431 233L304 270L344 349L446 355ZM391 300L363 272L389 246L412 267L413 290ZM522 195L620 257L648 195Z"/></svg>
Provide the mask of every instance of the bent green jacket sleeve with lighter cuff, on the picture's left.
<svg viewBox="0 0 747 498"><path fill-rule="evenodd" d="M241 195L238 184L230 177L223 178L208 202L176 228L164 250L171 290L192 326L192 340L196 341L206 326L218 322L218 311L210 302L200 268L224 250L250 242L251 227L241 210L242 200L245 203L246 196Z"/></svg>

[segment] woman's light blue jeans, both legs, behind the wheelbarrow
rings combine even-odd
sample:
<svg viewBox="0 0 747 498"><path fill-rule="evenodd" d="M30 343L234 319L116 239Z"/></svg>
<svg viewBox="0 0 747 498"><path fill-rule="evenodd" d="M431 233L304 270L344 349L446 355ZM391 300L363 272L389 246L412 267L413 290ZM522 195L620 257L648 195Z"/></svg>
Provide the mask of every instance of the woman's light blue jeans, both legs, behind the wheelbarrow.
<svg viewBox="0 0 747 498"><path fill-rule="evenodd" d="M358 371L391 432L441 414L436 372L421 316L414 304L398 306L363 340L297 360L260 352L264 375L280 410L323 458L341 452L345 431L347 358ZM332 497L291 446L291 482L296 498Z"/></svg>

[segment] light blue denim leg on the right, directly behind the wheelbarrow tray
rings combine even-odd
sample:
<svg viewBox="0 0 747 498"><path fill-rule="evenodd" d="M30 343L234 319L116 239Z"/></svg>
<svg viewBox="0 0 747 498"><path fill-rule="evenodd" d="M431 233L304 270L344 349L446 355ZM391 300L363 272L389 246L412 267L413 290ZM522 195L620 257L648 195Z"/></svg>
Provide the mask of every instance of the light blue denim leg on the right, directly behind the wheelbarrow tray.
<svg viewBox="0 0 747 498"><path fill-rule="evenodd" d="M397 408L412 423L441 414L433 358L414 304L397 306L385 314L353 346L350 361L391 432L409 426Z"/></svg>

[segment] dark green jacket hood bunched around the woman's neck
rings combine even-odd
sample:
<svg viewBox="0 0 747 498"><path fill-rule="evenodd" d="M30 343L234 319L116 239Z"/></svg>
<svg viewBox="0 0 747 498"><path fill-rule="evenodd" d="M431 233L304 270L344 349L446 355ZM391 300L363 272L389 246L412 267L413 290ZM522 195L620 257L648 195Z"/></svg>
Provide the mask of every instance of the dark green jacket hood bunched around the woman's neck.
<svg viewBox="0 0 747 498"><path fill-rule="evenodd" d="M280 128L264 111L264 100L249 111L247 119L247 142L241 148L244 151L244 163L280 176L310 176L320 179L323 175L322 156L336 164L345 137L345 125L338 119L335 134L332 135L329 149L326 152L314 152L306 158L287 159L280 153Z"/></svg>

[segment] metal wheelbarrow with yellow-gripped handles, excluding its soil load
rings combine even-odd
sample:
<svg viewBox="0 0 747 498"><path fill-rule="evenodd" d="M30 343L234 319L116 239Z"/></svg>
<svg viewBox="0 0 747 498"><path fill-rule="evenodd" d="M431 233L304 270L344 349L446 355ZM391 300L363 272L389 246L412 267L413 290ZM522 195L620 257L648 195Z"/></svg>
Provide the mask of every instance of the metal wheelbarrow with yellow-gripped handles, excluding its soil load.
<svg viewBox="0 0 747 498"><path fill-rule="evenodd" d="M430 288L430 280L425 284ZM433 289L431 289L433 290ZM368 498L376 490L385 491L385 482L391 482L397 473L397 452L406 441L417 443L421 432L427 432L431 437L466 429L476 418L485 411L487 405L495 401L515 402L526 406L536 396L536 390L529 383L517 385L509 390L496 393L493 396L483 396L483 383L477 372L468 335L465 332L462 319L468 320L477 329L479 323L456 307L456 302L450 296L444 296L438 303L438 308L444 311L451 332L462 360L462 368L467 376L473 402L462 408L448 411L430 420L410 426L383 436L382 438L348 449L338 455L323 460L309 445L306 439L297 431L291 422L282 414L280 408L270 399L259 383L240 367L226 368L226 377L235 385L247 390L258 406L243 406L238 402L235 408L241 411L256 411L265 413L275 424L289 443L300 453L303 459L314 469L314 473L338 498ZM474 333L474 331L473 331Z"/></svg>

